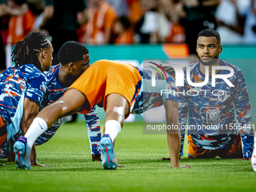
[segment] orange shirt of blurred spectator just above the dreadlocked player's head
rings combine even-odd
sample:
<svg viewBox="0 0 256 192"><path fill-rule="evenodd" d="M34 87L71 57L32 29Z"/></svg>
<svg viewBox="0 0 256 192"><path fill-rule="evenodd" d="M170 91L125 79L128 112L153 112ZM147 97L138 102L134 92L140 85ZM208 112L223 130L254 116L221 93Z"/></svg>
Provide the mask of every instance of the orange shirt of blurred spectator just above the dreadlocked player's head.
<svg viewBox="0 0 256 192"><path fill-rule="evenodd" d="M11 17L9 21L8 44L16 44L17 41L23 40L31 31L35 22L35 17L32 11L26 12L19 17Z"/></svg>

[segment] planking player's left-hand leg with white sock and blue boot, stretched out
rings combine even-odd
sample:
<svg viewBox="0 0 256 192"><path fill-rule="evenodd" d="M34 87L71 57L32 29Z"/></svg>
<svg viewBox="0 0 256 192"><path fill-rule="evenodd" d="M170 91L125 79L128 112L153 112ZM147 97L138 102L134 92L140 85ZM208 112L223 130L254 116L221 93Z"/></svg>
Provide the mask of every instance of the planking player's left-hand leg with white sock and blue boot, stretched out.
<svg viewBox="0 0 256 192"><path fill-rule="evenodd" d="M35 140L44 133L57 119L73 114L84 106L86 97L79 90L71 89L52 105L43 108L33 120L26 135L21 137L14 144L17 151L15 160L17 166L23 169L30 169L30 151Z"/></svg>

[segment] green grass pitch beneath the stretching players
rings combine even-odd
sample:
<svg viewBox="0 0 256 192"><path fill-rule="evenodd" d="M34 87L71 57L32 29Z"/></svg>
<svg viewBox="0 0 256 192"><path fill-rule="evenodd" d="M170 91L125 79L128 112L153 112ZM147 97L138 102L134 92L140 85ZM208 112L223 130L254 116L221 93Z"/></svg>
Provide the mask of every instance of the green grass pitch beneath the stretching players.
<svg viewBox="0 0 256 192"><path fill-rule="evenodd" d="M103 170L92 162L84 122L66 123L56 136L37 147L38 162L51 167L16 169L0 160L0 191L254 191L251 161L188 160L170 168L166 135L144 135L142 122L125 123L116 139L116 154L124 168ZM184 154L187 154L185 146Z"/></svg>

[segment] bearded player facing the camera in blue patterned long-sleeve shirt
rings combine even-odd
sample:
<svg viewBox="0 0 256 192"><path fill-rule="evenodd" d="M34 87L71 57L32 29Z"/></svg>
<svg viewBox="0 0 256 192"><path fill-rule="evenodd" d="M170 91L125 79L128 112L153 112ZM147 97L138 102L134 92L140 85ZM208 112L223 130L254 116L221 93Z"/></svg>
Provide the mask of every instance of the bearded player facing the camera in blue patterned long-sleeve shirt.
<svg viewBox="0 0 256 192"><path fill-rule="evenodd" d="M251 158L254 146L251 106L248 90L241 70L218 59L222 52L221 37L215 30L206 29L197 38L199 61L190 65L189 77L184 68L184 87L179 88L179 123L184 138L188 120L189 158ZM209 81L204 86L192 86L206 80L209 66ZM216 70L218 75L233 75L227 78L234 87L221 78L212 85L212 66L226 67ZM187 82L190 79L191 82ZM181 154L183 148L181 139ZM184 140L183 140L184 141Z"/></svg>

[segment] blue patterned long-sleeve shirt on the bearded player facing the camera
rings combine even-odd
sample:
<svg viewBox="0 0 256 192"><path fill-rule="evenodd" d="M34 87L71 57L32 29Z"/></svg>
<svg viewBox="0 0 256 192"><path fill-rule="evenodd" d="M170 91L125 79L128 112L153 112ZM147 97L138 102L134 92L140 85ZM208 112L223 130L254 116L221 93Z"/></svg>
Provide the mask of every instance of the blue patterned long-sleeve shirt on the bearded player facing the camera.
<svg viewBox="0 0 256 192"><path fill-rule="evenodd" d="M234 87L229 87L223 79L217 79L215 87L212 87L211 76L205 86L192 87L187 84L187 69L184 68L184 87L179 87L178 96L181 141L188 119L188 131L194 145L209 150L226 148L240 133L243 157L248 158L253 150L254 136L245 78L238 67L223 60L220 60L220 65L234 70L234 75L228 78ZM219 75L229 73L221 70ZM200 62L190 65L189 78L194 83L205 81L205 75L200 72Z"/></svg>

